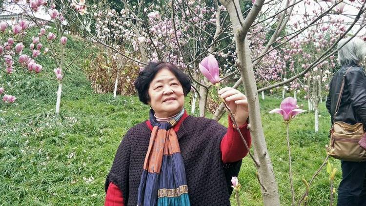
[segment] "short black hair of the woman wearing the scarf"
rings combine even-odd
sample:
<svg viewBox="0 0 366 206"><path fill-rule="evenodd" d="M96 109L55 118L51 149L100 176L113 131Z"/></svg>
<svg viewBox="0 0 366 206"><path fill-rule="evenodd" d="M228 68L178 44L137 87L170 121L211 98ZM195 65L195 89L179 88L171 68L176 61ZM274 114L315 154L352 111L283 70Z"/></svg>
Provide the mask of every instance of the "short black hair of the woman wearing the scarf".
<svg viewBox="0 0 366 206"><path fill-rule="evenodd" d="M168 69L176 76L182 84L184 96L191 90L191 79L176 65L167 62L149 62L135 80L135 88L142 103L148 104L150 101L148 94L150 82L161 69Z"/></svg>

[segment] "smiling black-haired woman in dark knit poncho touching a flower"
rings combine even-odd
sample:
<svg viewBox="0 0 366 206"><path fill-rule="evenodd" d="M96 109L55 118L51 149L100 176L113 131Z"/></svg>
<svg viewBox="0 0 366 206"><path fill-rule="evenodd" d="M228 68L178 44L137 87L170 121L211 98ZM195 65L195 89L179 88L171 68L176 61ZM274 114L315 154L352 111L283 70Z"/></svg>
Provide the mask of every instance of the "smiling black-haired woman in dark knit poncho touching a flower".
<svg viewBox="0 0 366 206"><path fill-rule="evenodd" d="M193 117L183 108L191 89L186 74L170 63L150 62L135 81L149 119L127 131L106 178L106 206L230 205L231 177L237 176L244 143L229 118L228 128ZM246 97L219 91L250 145Z"/></svg>

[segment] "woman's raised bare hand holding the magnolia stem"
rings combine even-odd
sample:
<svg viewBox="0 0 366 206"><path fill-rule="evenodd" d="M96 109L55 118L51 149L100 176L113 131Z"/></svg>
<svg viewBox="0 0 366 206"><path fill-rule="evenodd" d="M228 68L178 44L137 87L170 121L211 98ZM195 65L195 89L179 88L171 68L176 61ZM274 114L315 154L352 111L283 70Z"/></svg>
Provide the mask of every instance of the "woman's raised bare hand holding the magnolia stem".
<svg viewBox="0 0 366 206"><path fill-rule="evenodd" d="M249 116L248 101L246 96L231 87L220 89L218 94L225 100L227 106L234 114L236 123L241 126L246 123Z"/></svg>

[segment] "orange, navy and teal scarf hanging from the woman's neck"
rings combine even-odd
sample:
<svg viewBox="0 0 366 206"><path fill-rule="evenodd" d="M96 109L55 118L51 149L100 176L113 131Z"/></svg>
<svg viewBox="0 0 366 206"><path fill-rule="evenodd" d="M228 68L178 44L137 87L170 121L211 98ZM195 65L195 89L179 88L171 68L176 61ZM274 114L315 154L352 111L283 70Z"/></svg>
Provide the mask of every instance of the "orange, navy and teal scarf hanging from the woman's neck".
<svg viewBox="0 0 366 206"><path fill-rule="evenodd" d="M176 117L160 123L150 109L154 128L143 164L137 206L190 206L183 158L173 129L183 114L184 108Z"/></svg>

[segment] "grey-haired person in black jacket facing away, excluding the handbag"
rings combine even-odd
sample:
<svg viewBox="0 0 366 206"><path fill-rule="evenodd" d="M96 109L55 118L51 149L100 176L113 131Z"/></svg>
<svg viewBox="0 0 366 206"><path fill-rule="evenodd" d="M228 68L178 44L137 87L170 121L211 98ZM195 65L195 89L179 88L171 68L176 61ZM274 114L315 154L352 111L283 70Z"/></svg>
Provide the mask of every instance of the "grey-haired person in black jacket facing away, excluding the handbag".
<svg viewBox="0 0 366 206"><path fill-rule="evenodd" d="M349 39L339 41L338 48ZM338 50L338 62L342 65L329 84L329 96L326 108L333 122L342 78L345 87L335 121L347 124L363 123L366 125L366 76L361 63L365 60L366 43L353 38ZM366 162L341 161L342 181L339 185L339 206L366 205Z"/></svg>

